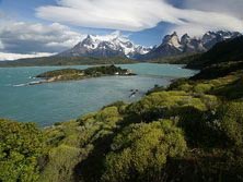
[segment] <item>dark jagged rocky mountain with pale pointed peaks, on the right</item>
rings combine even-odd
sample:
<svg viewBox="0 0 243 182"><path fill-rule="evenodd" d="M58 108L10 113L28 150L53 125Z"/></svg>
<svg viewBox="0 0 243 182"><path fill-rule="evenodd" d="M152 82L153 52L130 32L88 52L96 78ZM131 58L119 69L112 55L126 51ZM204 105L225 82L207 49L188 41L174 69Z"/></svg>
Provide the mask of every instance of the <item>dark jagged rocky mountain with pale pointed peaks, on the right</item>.
<svg viewBox="0 0 243 182"><path fill-rule="evenodd" d="M238 32L208 32L202 37L190 37L188 34L181 38L174 32L172 35L166 35L162 44L150 52L140 57L140 59L155 59L163 57L178 56L183 53L206 52L211 49L217 43L233 39L241 36Z"/></svg>

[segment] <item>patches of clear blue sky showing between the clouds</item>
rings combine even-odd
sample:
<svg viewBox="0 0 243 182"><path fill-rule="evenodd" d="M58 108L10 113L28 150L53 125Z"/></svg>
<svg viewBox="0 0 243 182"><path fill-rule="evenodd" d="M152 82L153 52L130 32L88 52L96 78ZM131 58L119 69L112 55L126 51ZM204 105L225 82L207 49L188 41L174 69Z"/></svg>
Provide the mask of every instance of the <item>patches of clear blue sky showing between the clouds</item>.
<svg viewBox="0 0 243 182"><path fill-rule="evenodd" d="M177 0L171 1L173 4L180 4ZM16 21L25 21L33 23L43 23L49 24L53 21L46 21L39 19L35 15L36 9L42 5L55 5L57 4L56 0L0 0L0 10L5 13L8 16L16 20ZM68 26L72 29L76 29L82 34L111 34L117 29L106 29L106 28L91 28L91 27L82 27L74 26L73 24L68 24ZM158 26L139 31L139 32L129 32L123 31L121 33L125 35L130 35L130 39L136 44L143 46L154 46L159 45L162 41L164 34L167 33L167 29L171 25L167 23L159 23Z"/></svg>

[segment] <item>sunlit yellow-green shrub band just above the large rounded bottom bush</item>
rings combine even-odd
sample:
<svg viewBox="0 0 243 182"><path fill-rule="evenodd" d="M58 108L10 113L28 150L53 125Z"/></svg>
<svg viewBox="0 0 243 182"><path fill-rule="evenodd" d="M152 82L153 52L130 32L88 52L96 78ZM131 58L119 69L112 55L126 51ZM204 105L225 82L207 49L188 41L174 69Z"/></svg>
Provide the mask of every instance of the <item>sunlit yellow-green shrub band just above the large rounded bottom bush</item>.
<svg viewBox="0 0 243 182"><path fill-rule="evenodd" d="M143 97L138 102L127 107L127 112L135 114L142 121L152 121L166 118L175 108L194 107L206 111L218 105L215 96L194 95L185 92L160 92Z"/></svg>

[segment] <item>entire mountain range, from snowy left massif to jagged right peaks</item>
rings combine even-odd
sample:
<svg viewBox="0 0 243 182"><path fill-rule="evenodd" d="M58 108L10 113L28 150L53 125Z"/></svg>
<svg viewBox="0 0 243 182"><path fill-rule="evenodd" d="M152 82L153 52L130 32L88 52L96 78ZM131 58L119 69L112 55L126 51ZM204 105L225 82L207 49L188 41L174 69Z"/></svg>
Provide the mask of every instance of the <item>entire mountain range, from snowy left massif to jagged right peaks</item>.
<svg viewBox="0 0 243 182"><path fill-rule="evenodd" d="M73 48L66 50L57 57L126 57L130 59L148 60L163 57L178 56L183 53L206 52L217 43L241 36L238 32L208 32L201 37L190 37L188 34L181 38L174 32L166 35L158 47L143 47L135 45L119 33L106 36L88 35Z"/></svg>

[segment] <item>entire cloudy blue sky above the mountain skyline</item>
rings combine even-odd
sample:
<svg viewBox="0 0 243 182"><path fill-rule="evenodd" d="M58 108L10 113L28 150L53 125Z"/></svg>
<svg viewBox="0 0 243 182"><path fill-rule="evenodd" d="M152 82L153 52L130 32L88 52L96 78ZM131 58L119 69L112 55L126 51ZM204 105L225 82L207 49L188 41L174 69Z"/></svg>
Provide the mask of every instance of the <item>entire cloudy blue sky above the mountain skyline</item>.
<svg viewBox="0 0 243 182"><path fill-rule="evenodd" d="M0 0L0 59L59 52L115 31L143 46L174 31L242 32L242 0Z"/></svg>

